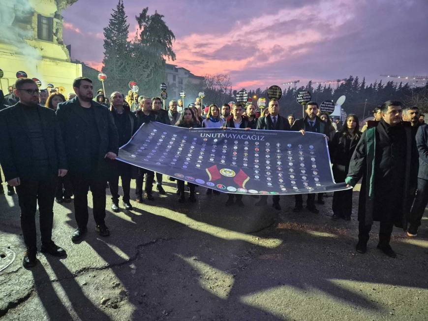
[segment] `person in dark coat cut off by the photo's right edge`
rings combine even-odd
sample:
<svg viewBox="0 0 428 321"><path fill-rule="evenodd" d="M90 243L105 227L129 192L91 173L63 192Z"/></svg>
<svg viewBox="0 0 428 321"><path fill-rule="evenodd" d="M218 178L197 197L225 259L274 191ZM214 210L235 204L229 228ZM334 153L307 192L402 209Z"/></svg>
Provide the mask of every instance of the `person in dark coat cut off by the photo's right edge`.
<svg viewBox="0 0 428 321"><path fill-rule="evenodd" d="M428 125L419 126L416 146L419 151L418 189L409 216L407 235L410 237L417 236L428 203Z"/></svg>

